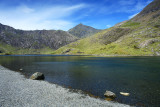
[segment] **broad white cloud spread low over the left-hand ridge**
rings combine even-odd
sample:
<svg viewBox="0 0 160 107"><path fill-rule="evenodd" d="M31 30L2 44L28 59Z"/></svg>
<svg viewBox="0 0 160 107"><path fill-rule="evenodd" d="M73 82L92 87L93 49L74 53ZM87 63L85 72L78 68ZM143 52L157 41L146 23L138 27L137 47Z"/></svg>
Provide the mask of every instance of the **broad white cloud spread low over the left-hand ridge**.
<svg viewBox="0 0 160 107"><path fill-rule="evenodd" d="M0 23L23 30L68 30L74 25L74 23L68 18L76 11L85 7L85 4L78 4L73 6L58 5L52 7L41 7L40 9L21 5L16 7L16 9L1 9Z"/></svg>

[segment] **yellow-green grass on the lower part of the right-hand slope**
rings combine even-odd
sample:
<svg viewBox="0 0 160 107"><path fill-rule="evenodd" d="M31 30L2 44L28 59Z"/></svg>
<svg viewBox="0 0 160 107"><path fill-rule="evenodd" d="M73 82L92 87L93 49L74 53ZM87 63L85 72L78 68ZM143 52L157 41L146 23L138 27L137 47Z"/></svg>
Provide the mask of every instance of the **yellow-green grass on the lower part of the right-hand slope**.
<svg viewBox="0 0 160 107"><path fill-rule="evenodd" d="M123 27L124 28L124 27ZM154 39L160 40L160 37L156 37L156 33L153 34L152 32L158 32L157 28L152 28L151 30L149 27L144 27L140 30L131 29L132 33L127 33L126 35L121 36L114 42L106 44L108 39L106 38L107 32L110 32L115 28L110 28L104 30L102 32L97 33L92 37L88 37L77 42L71 43L67 46L64 46L54 54L97 54L97 55L154 55L160 52L160 42L155 42L148 44L146 47L141 48L145 40ZM128 29L128 28L127 28ZM154 30L153 30L154 29ZM132 31L133 30L133 31ZM145 32L144 34L142 32ZM160 33L160 32L159 32ZM117 32L119 34L119 32ZM114 35L111 35L114 36ZM150 37L151 36L151 37ZM111 37L110 37L111 39ZM115 39L115 36L112 40ZM110 41L109 41L110 42ZM157 53L156 53L157 52Z"/></svg>

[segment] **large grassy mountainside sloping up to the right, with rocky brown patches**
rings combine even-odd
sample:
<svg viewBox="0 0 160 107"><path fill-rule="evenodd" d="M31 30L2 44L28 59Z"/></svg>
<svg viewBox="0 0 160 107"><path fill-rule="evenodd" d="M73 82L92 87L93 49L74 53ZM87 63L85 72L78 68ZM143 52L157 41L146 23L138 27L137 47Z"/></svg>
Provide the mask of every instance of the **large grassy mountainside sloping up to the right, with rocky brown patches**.
<svg viewBox="0 0 160 107"><path fill-rule="evenodd" d="M160 55L160 0L134 18L61 47L54 54Z"/></svg>

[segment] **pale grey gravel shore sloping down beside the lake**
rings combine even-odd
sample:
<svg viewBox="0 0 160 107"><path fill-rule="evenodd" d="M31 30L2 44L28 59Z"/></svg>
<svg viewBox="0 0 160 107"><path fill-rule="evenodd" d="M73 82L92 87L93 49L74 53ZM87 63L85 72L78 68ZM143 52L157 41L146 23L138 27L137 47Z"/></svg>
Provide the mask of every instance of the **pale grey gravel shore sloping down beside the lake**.
<svg viewBox="0 0 160 107"><path fill-rule="evenodd" d="M0 107L129 107L24 78L0 66Z"/></svg>

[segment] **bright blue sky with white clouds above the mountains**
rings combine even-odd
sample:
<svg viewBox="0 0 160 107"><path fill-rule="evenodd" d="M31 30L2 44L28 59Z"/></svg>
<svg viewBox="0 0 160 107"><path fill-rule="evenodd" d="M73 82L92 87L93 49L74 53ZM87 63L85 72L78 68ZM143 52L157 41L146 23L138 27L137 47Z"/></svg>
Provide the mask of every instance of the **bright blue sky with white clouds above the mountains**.
<svg viewBox="0 0 160 107"><path fill-rule="evenodd" d="M69 30L79 23L107 29L153 0L0 0L0 23L22 30Z"/></svg>

